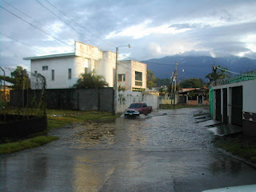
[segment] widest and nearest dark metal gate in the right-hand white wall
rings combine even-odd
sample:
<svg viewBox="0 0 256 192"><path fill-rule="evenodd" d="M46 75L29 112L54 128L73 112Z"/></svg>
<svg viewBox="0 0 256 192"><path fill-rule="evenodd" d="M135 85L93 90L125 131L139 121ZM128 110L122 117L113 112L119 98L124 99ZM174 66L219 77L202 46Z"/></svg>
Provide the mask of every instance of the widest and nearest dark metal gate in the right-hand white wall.
<svg viewBox="0 0 256 192"><path fill-rule="evenodd" d="M242 86L232 87L232 124L242 126Z"/></svg>

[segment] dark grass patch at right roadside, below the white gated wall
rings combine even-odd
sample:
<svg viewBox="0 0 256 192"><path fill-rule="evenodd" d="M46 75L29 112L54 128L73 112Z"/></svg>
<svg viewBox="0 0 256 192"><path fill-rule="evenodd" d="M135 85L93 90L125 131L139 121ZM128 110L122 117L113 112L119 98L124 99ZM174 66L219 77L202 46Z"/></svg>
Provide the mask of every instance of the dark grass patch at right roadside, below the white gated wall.
<svg viewBox="0 0 256 192"><path fill-rule="evenodd" d="M256 140L253 138L225 137L215 139L215 145L231 154L256 163Z"/></svg>

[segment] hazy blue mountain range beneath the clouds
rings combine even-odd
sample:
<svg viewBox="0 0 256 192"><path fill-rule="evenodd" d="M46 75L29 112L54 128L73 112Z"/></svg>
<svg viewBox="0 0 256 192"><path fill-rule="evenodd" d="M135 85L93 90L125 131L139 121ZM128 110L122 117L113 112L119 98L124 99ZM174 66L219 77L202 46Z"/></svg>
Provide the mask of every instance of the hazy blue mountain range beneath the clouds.
<svg viewBox="0 0 256 192"><path fill-rule="evenodd" d="M175 62L178 63L178 79L202 78L212 72L212 66L226 67L235 73L245 73L256 70L256 59L230 56L226 58L212 58L209 56L182 56L174 55L165 58L151 58L142 61L147 64L147 70L151 70L156 78L170 78L175 70ZM235 75L235 74L234 74Z"/></svg>

